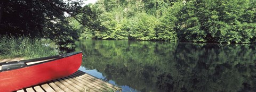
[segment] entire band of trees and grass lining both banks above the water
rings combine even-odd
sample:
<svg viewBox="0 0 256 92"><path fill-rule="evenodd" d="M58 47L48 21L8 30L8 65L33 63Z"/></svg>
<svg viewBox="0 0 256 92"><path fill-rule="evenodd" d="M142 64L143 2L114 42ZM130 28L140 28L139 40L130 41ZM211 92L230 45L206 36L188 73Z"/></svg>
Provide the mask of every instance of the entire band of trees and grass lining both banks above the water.
<svg viewBox="0 0 256 92"><path fill-rule="evenodd" d="M74 52L79 39L256 44L255 5L255 0L0 1L0 59Z"/></svg>

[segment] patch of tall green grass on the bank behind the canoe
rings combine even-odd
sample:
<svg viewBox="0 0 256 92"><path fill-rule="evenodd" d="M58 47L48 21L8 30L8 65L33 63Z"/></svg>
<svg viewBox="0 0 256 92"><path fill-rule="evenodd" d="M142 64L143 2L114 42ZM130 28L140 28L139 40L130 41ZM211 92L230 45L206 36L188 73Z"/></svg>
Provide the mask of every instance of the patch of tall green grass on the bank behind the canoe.
<svg viewBox="0 0 256 92"><path fill-rule="evenodd" d="M52 41L29 37L0 36L0 59L23 57L38 58L57 55L59 50Z"/></svg>

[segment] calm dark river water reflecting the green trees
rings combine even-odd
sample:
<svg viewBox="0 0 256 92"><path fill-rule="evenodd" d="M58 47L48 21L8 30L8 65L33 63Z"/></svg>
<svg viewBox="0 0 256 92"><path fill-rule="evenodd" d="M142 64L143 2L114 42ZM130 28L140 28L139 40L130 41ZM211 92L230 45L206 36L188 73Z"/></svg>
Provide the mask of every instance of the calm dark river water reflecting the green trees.
<svg viewBox="0 0 256 92"><path fill-rule="evenodd" d="M83 40L80 70L123 91L256 91L256 46Z"/></svg>

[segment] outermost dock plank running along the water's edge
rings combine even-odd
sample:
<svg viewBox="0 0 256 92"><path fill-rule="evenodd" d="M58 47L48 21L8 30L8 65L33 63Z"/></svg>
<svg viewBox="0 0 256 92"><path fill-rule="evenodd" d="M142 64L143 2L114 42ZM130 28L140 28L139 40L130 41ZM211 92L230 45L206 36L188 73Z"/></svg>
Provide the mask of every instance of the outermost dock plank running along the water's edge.
<svg viewBox="0 0 256 92"><path fill-rule="evenodd" d="M122 90L122 89L119 88L119 87L116 87L116 86L114 86L114 85L111 85L110 83L108 83L108 82L106 82L106 81L103 81L103 80L100 80L100 79L98 79L98 78L95 78L95 77L93 77L93 76L91 76L91 75L89 75L89 74L87 74L87 73L82 72L82 71L77 71L76 73L82 74L82 76L84 76L86 79L89 79L89 80L92 80L92 81L94 81L94 82L97 82L97 83L101 84L102 86L104 86L104 87L107 88L107 89L111 88L111 89L115 89L115 90ZM76 74L76 73L75 73L75 74Z"/></svg>

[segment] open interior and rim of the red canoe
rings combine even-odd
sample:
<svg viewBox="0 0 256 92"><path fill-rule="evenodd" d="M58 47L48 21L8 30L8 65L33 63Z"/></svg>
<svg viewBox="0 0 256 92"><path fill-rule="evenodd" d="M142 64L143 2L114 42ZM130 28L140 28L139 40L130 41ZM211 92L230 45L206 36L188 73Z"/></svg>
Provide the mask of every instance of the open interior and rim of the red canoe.
<svg viewBox="0 0 256 92"><path fill-rule="evenodd" d="M75 55L78 53L81 53L81 52L68 53L68 54L49 56L49 57L42 57L42 58L35 58L35 59L31 59L31 60L2 62L2 63L0 63L0 72L24 68L26 66L41 64L44 62L51 62L51 61L58 60L63 57Z"/></svg>

